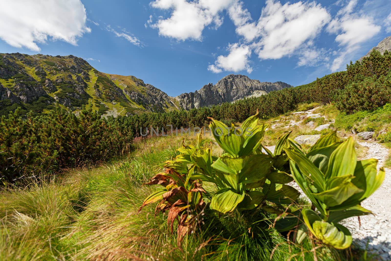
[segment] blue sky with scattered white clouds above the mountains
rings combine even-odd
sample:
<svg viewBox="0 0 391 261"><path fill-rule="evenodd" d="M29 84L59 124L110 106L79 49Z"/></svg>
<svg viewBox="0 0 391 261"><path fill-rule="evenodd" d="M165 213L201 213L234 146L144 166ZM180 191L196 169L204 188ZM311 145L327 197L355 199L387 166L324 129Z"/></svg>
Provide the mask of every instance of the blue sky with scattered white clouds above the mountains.
<svg viewBox="0 0 391 261"><path fill-rule="evenodd" d="M297 86L391 35L390 12L389 0L6 0L0 52L73 54L170 96L231 73Z"/></svg>

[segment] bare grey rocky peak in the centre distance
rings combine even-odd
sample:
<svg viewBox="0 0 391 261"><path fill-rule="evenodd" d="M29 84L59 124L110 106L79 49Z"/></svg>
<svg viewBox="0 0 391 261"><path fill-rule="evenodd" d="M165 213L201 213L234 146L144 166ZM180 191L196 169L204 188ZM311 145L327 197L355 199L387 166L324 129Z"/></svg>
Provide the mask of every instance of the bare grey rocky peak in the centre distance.
<svg viewBox="0 0 391 261"><path fill-rule="evenodd" d="M230 74L215 85L208 83L200 90L184 93L175 97L179 105L185 110L203 106L217 105L224 102L233 102L246 97L257 97L271 91L293 87L283 82L260 82L245 75Z"/></svg>

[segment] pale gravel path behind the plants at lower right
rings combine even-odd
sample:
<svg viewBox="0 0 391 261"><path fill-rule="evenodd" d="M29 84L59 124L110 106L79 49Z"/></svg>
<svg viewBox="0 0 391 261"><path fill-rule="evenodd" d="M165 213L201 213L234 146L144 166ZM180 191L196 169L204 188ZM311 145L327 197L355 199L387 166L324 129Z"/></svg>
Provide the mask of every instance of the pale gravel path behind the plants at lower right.
<svg viewBox="0 0 391 261"><path fill-rule="evenodd" d="M383 166L388 157L388 149L376 142L358 142L368 147L365 158L376 158L377 168ZM266 147L274 151L275 146ZM386 175L382 185L369 198L361 202L362 207L369 209L373 215L348 218L341 221L352 233L353 245L368 250L369 260L391 260L391 169L384 169ZM295 187L305 196L296 182L288 185ZM367 247L368 243L368 247Z"/></svg>

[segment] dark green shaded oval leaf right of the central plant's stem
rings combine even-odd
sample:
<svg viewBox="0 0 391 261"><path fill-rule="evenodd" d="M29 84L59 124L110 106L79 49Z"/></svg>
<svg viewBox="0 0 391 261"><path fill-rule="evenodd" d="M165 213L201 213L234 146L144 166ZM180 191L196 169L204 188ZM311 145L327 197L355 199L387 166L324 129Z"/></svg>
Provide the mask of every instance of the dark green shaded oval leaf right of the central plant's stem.
<svg viewBox="0 0 391 261"><path fill-rule="evenodd" d="M273 159L265 154L257 154L246 158L248 158L247 164L239 174L239 182L249 184L264 180L266 174L270 172Z"/></svg>

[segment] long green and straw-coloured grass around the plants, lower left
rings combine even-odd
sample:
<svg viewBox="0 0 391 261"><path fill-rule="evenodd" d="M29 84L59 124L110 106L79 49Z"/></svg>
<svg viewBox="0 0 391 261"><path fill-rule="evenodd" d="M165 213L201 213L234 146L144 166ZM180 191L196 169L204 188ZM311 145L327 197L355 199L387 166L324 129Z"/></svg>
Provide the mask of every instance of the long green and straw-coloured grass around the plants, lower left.
<svg viewBox="0 0 391 261"><path fill-rule="evenodd" d="M195 143L194 136L184 137ZM74 169L25 189L0 193L0 260L345 260L346 252L297 246L271 226L275 216L259 212L217 216L182 247L154 216L154 204L138 213L158 189L143 186L178 153L183 137L153 137L135 143L135 152L92 169ZM206 139L204 146L209 146ZM221 153L221 151L220 151ZM261 220L261 221L260 221Z"/></svg>

